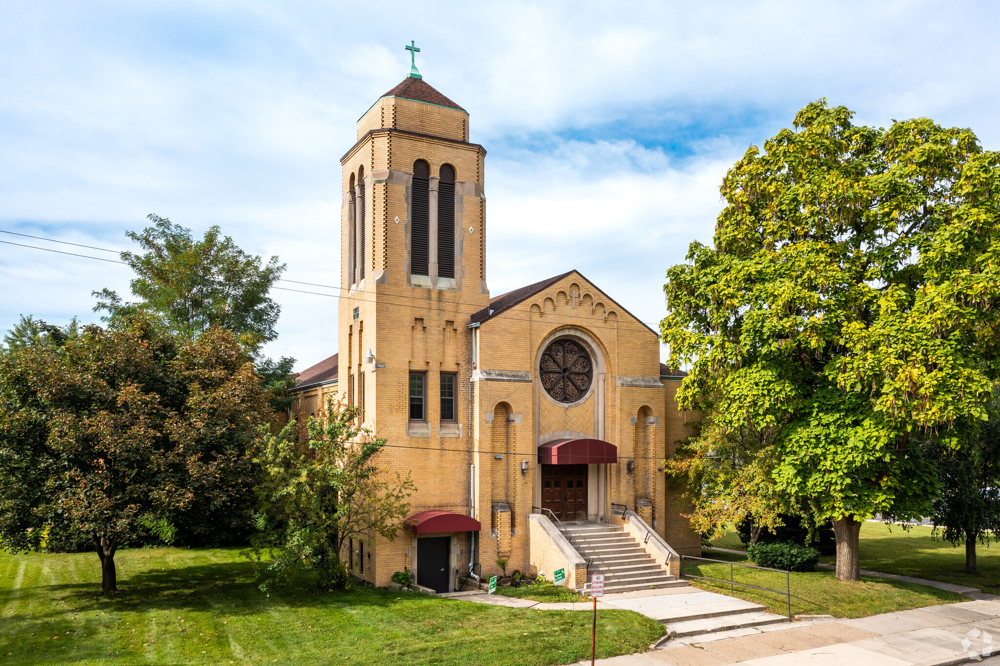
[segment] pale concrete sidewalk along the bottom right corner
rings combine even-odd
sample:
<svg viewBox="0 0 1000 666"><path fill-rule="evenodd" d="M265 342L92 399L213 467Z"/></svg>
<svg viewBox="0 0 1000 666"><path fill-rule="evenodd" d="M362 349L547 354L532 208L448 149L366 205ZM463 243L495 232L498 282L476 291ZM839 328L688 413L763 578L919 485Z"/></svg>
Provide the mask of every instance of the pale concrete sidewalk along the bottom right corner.
<svg viewBox="0 0 1000 666"><path fill-rule="evenodd" d="M733 635L741 631L752 633ZM671 640L658 650L601 659L597 663L601 666L950 666L998 653L1000 601L977 600L858 620L795 622L693 636Z"/></svg>

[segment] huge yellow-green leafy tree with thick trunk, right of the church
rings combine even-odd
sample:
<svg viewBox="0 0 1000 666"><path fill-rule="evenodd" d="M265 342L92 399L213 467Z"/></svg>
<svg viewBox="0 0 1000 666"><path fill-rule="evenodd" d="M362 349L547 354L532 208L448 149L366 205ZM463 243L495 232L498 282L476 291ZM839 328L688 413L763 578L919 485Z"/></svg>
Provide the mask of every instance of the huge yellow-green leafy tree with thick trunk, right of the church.
<svg viewBox="0 0 1000 666"><path fill-rule="evenodd" d="M862 521L928 515L940 484L910 450L986 418L1000 344L1000 155L926 118L888 129L809 104L726 174L714 246L669 269L682 408L783 424L779 491L830 518L857 580Z"/></svg>

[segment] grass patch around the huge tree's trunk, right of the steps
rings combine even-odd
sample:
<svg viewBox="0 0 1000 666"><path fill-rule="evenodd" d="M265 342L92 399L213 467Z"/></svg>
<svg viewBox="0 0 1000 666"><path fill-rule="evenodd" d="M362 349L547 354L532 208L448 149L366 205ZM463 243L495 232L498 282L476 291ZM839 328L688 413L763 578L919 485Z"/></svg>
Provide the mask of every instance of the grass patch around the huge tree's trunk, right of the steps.
<svg viewBox="0 0 1000 666"><path fill-rule="evenodd" d="M719 551L705 550L705 557L732 562L749 563L741 555L731 555ZM695 560L696 562L697 560ZM729 565L703 563L692 565L685 562L685 572L699 576L729 579ZM767 606L772 613L786 615L787 597L784 595L785 574L746 567L733 567L733 578L737 581L782 590L782 594L764 592L752 588L734 586L733 595ZM834 578L832 571L818 570L810 573L792 573L789 576L792 589L792 614L834 615L836 617L867 617L878 613L889 613L968 601L967 597L945 592L926 585L903 583L885 578L862 576L860 582L845 582ZM729 583L690 580L696 585L713 592L730 594Z"/></svg>

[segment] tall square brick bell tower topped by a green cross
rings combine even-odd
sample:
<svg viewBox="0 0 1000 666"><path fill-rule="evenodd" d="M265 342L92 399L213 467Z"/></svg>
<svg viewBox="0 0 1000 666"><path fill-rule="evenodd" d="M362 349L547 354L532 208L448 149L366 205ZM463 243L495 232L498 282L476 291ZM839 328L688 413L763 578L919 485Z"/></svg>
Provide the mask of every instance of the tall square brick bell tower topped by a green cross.
<svg viewBox="0 0 1000 666"><path fill-rule="evenodd" d="M468 324L489 305L486 151L469 142L468 112L417 70L419 49L407 50L410 73L362 114L357 143L340 160L339 394L392 444L466 449ZM414 453L379 455L400 469ZM466 471L437 497L440 478L417 478L413 468L419 502L465 512L468 454L441 455L437 469Z"/></svg>

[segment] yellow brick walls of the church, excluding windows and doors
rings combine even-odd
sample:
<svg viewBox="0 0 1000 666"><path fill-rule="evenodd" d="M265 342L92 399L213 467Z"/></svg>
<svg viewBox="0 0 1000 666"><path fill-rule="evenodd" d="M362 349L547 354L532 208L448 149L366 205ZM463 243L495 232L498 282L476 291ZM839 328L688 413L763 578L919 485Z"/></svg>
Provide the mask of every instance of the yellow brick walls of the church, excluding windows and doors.
<svg viewBox="0 0 1000 666"><path fill-rule="evenodd" d="M677 493L659 471L664 456L686 436L691 416L674 402L679 382L661 380L656 333L575 271L502 312L490 312L486 151L468 142L468 132L465 111L384 97L361 117L358 142L341 160L344 297L339 374L328 392L363 400L365 426L389 443L379 464L412 474L418 488L412 514L444 510L481 524L473 533L400 531L394 542L376 538L365 545L363 557L355 545L354 573L382 586L393 572L415 566L420 583L419 539L440 536L451 537L451 587L464 577L470 559L481 564L483 576L500 573L498 558L508 560L508 573L531 569L532 553L555 561L559 555L551 544L533 541L542 532L527 516L541 505L538 446L560 437L617 447L617 463L587 465L589 519L608 522L611 504L625 504L673 548L694 553L699 537L688 529ZM429 277L410 272L411 187L418 159L430 165L432 210L451 204L433 198L442 165L456 172L452 279L435 278L434 267ZM353 197L352 181L359 188ZM358 255L353 219L365 234L365 253L358 257L364 279L353 271ZM478 323L472 321L476 313ZM582 345L594 364L590 388L571 406L548 395L538 372L542 351L560 339ZM426 418L420 422L409 419L411 372L425 373ZM441 420L442 373L456 376L453 422ZM321 398L321 391L302 395L293 411L309 412Z"/></svg>

